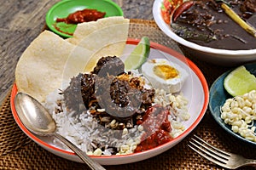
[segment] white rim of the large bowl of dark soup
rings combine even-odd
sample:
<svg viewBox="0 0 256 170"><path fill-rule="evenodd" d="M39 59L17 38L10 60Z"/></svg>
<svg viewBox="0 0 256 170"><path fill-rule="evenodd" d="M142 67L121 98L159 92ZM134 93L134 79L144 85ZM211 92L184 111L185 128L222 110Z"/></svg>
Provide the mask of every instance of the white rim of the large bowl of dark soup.
<svg viewBox="0 0 256 170"><path fill-rule="evenodd" d="M210 53L210 54L225 54L225 55L248 55L248 54L256 54L256 48L255 49L248 49L248 50L227 50L227 49L218 49L218 48L208 48L204 47L198 44L195 44L193 42L189 42L182 37L177 36L172 30L171 26L168 26L166 22L162 19L162 16L160 14L160 7L163 0L155 0L153 4L153 16L156 24L160 27L162 31L166 33L168 37L172 37L173 40L177 41L178 43L181 43L182 45L194 48L196 50L199 50L204 53ZM246 57L246 56L245 56Z"/></svg>

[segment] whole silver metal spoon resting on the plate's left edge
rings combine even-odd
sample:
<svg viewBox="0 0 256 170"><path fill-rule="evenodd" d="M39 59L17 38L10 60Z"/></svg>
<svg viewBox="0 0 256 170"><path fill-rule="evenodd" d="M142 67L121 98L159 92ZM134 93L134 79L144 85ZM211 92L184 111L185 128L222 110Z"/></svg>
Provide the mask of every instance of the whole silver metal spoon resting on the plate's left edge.
<svg viewBox="0 0 256 170"><path fill-rule="evenodd" d="M40 136L55 136L64 144L73 150L84 163L91 169L103 170L98 162L93 161L84 151L80 150L76 145L65 139L58 133L55 133L56 123L49 112L41 105L38 100L24 93L18 93L15 96L15 110L17 111L20 121L32 133Z"/></svg>

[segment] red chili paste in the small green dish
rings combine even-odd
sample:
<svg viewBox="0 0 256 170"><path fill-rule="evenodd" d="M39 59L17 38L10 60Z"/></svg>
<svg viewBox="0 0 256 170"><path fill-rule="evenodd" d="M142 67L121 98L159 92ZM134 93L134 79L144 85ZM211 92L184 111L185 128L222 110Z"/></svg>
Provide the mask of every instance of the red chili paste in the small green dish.
<svg viewBox="0 0 256 170"><path fill-rule="evenodd" d="M105 12L100 12L96 9L85 8L83 10L76 11L73 14L69 14L67 18L57 18L56 22L65 22L67 24L79 24L82 22L96 21L98 19L102 19L105 16L105 14Z"/></svg>

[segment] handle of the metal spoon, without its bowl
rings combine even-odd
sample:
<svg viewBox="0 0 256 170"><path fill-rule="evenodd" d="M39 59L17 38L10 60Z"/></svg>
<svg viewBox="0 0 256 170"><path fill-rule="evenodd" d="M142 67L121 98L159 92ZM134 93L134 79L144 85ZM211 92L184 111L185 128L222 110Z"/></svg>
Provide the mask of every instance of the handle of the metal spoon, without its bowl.
<svg viewBox="0 0 256 170"><path fill-rule="evenodd" d="M102 165L100 165L98 162L93 161L89 156L85 154L84 151L80 150L75 144L70 142L68 139L65 139L61 134L55 133L55 137L57 139L60 139L61 142L66 144L71 150L73 150L84 163L86 163L91 169L93 170L106 170Z"/></svg>

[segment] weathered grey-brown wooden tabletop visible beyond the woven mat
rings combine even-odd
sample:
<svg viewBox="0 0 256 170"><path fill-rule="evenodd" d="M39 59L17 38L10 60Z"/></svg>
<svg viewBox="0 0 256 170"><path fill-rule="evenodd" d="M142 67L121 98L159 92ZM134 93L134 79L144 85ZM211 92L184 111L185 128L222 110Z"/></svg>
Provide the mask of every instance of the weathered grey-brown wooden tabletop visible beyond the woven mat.
<svg viewBox="0 0 256 170"><path fill-rule="evenodd" d="M44 29L45 14L60 0L7 0L0 6L0 104L15 82L15 66ZM113 0L129 19L153 20L154 0Z"/></svg>

